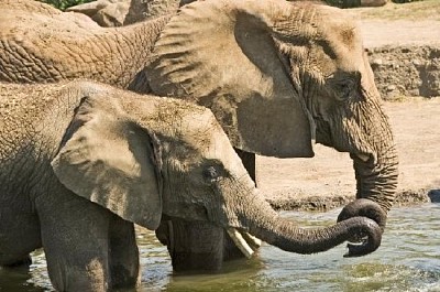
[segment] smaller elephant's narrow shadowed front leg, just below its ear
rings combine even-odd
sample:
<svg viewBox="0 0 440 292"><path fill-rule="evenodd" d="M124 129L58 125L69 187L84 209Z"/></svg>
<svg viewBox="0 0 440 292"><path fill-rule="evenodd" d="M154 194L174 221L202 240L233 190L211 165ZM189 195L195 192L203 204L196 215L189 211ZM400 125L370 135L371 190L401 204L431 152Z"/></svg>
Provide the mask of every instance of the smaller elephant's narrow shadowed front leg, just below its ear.
<svg viewBox="0 0 440 292"><path fill-rule="evenodd" d="M112 288L133 288L140 281L139 249L134 225L112 215L109 232Z"/></svg>

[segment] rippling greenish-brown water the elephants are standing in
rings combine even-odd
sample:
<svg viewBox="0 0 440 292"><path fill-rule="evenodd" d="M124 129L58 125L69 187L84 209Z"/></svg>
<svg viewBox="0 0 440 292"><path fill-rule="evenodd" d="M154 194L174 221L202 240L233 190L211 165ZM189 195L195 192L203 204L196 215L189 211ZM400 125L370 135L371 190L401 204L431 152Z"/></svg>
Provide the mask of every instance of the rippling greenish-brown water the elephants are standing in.
<svg viewBox="0 0 440 292"><path fill-rule="evenodd" d="M304 226L330 225L340 209L283 216ZM344 246L301 256L264 245L252 260L228 263L219 274L173 275L165 247L151 232L139 238L140 291L417 291L440 292L440 205L391 212L382 246L362 258L342 258ZM31 271L0 270L0 291L51 291L44 255L36 251Z"/></svg>

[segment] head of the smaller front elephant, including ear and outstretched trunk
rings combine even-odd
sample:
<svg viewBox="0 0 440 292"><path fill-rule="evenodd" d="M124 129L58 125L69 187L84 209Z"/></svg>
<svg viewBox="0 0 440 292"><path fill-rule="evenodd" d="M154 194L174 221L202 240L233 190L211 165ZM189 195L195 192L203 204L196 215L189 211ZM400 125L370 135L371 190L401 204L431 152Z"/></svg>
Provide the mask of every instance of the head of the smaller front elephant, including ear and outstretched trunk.
<svg viewBox="0 0 440 292"><path fill-rule="evenodd" d="M243 250L243 232L299 253L328 250L353 235L369 240L350 247L349 256L380 246L381 228L366 217L321 229L280 218L209 109L90 83L66 88L79 93L79 105L53 171L73 193L121 218L148 229L156 229L163 215L209 223L228 230ZM73 94L68 98L73 104Z"/></svg>

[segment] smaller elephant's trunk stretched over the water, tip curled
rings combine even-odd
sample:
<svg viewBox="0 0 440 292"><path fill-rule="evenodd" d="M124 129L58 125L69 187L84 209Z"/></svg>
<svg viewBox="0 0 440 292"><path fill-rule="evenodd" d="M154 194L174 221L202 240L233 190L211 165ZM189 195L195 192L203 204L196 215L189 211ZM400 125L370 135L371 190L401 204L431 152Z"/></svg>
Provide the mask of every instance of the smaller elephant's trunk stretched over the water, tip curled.
<svg viewBox="0 0 440 292"><path fill-rule="evenodd" d="M262 216L263 215L263 216ZM348 257L364 256L378 248L382 229L372 219L352 217L330 227L304 229L282 218L257 195L246 201L239 217L249 232L270 245L297 253L315 253L329 250L350 238L367 237L363 245L349 245Z"/></svg>

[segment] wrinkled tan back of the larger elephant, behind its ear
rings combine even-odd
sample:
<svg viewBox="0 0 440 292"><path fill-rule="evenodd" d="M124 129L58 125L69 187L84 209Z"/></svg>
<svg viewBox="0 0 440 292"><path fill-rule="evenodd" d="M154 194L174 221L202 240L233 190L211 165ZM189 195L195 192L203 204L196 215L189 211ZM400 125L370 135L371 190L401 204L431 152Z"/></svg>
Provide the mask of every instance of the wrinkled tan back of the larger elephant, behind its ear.
<svg viewBox="0 0 440 292"><path fill-rule="evenodd" d="M145 93L150 88L138 75L169 20L106 29L81 13L33 0L1 1L0 13L0 82L87 78Z"/></svg>

